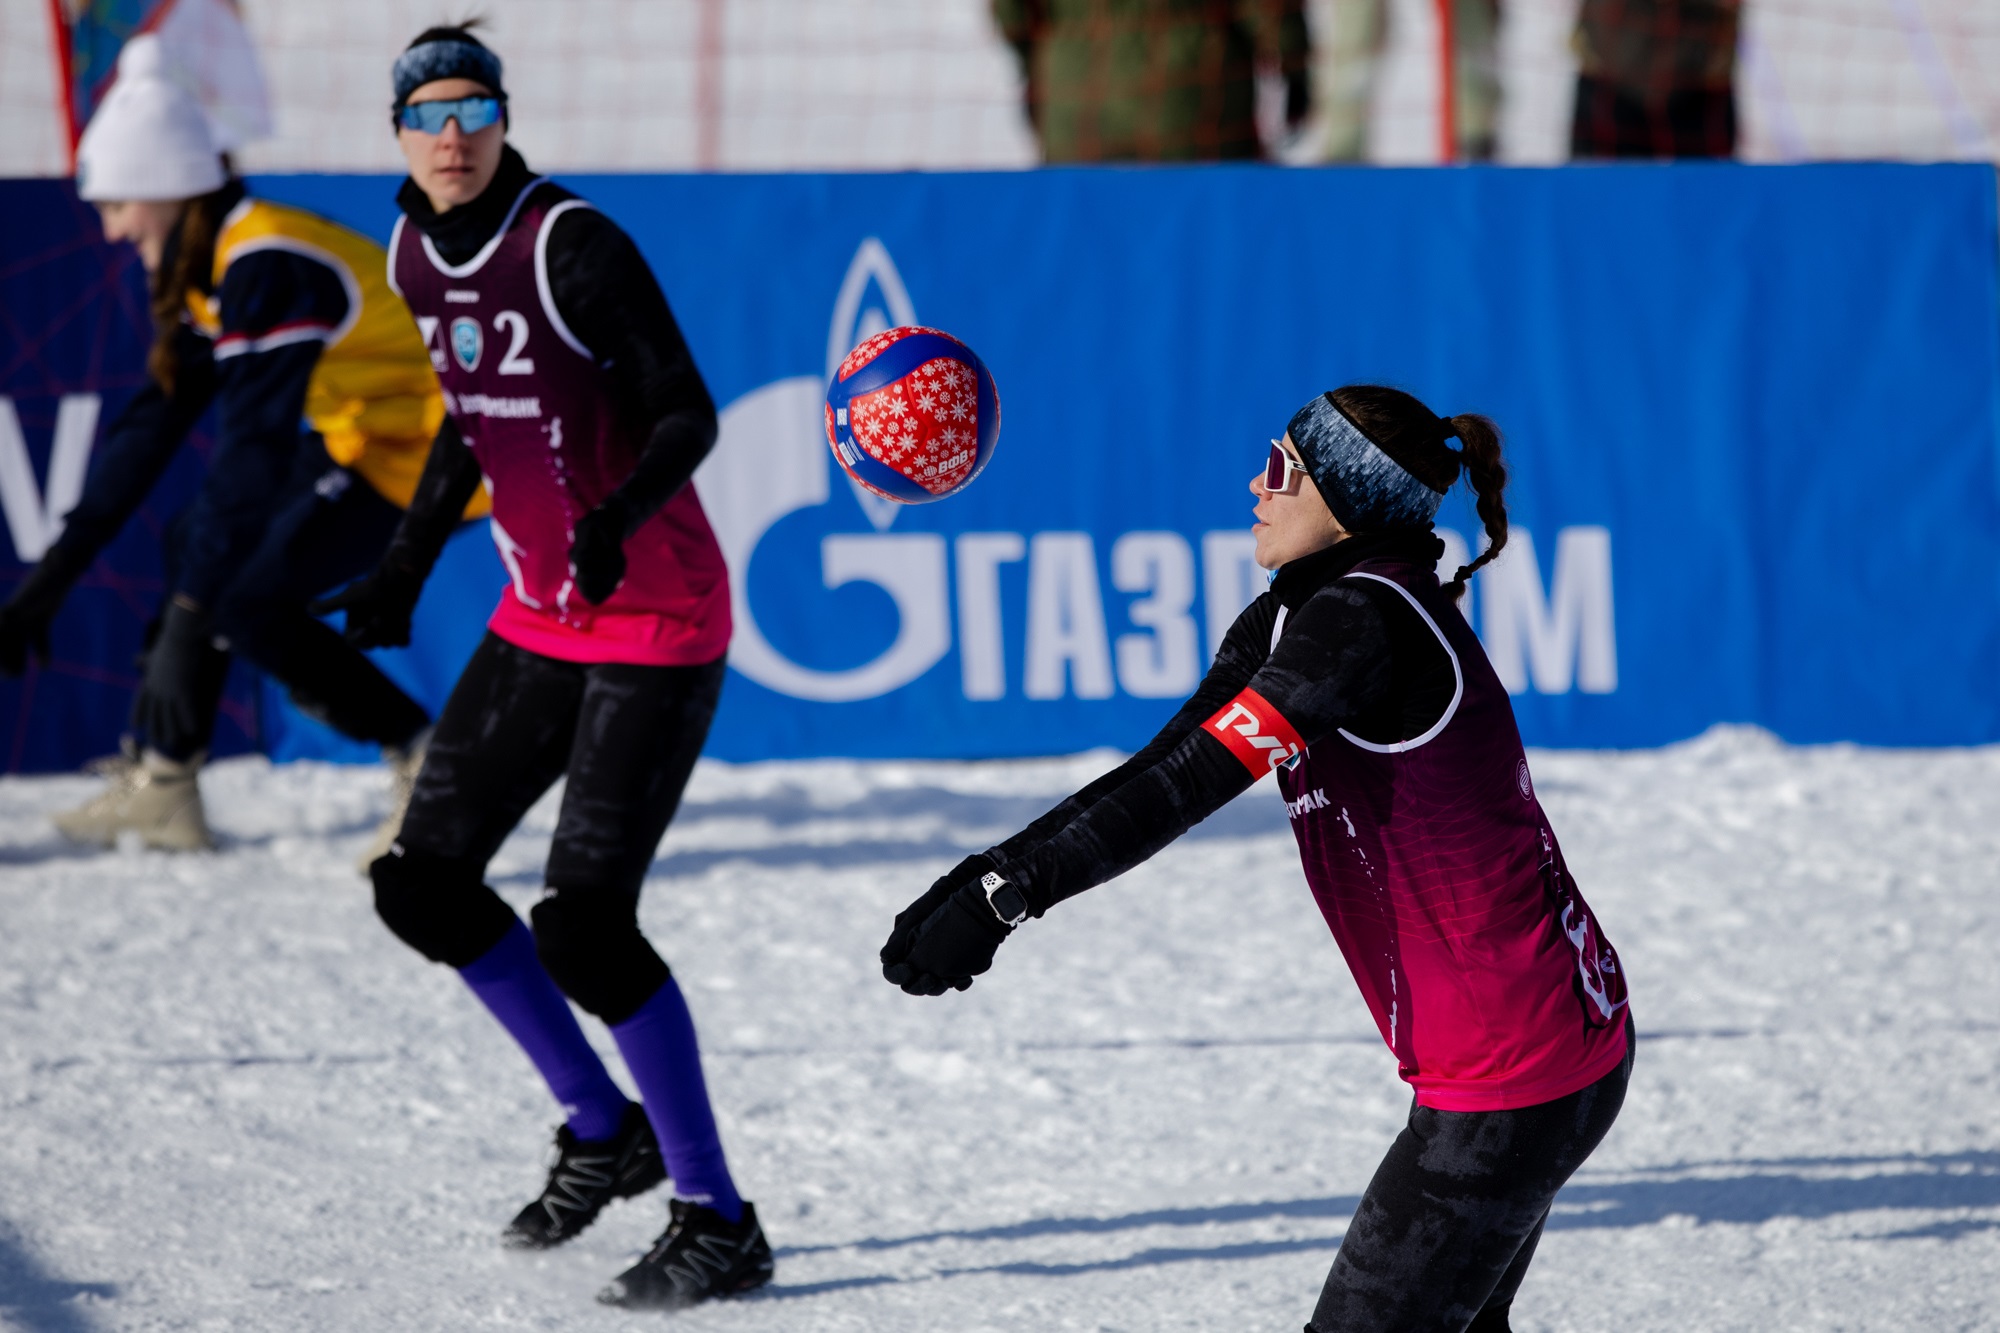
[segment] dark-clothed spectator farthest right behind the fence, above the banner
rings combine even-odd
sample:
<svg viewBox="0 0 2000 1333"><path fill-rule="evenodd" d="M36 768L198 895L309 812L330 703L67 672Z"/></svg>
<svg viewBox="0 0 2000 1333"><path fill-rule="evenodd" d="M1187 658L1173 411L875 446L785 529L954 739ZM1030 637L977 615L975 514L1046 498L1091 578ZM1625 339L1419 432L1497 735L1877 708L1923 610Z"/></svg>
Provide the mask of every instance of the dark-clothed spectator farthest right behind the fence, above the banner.
<svg viewBox="0 0 2000 1333"><path fill-rule="evenodd" d="M1572 156L1736 156L1740 16L1742 0L1584 0Z"/></svg>

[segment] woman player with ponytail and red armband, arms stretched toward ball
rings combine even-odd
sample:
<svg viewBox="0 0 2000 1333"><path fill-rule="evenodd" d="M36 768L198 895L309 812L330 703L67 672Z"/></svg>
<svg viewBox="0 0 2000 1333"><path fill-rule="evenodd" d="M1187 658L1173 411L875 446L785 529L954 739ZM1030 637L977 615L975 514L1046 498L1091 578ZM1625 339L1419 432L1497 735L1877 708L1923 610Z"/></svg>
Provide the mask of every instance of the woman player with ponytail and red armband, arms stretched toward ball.
<svg viewBox="0 0 2000 1333"><path fill-rule="evenodd" d="M1460 472L1490 544L1440 586L1430 524ZM1632 1069L1618 957L1456 608L1506 542L1504 486L1484 416L1378 386L1308 402L1250 484L1276 576L1196 695L1132 761L932 885L882 949L904 991L962 991L1022 921L1276 769L1306 881L1416 1089L1308 1333L1506 1329L1550 1203Z"/></svg>

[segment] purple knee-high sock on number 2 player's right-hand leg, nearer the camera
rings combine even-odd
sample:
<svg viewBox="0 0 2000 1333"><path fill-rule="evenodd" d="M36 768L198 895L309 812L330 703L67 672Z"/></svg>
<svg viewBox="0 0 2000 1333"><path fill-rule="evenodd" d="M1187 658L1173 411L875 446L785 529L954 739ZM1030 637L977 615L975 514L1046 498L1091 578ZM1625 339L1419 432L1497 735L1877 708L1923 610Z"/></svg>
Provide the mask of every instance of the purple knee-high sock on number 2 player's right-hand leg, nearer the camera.
<svg viewBox="0 0 2000 1333"><path fill-rule="evenodd" d="M638 1083L646 1117L660 1137L660 1155L674 1177L674 1193L706 1203L726 1219L742 1217L742 1197L722 1161L722 1139L716 1135L716 1115L708 1109L708 1083L702 1079L702 1051L694 1041L694 1019L688 1001L668 977L624 1023L612 1027L618 1053Z"/></svg>

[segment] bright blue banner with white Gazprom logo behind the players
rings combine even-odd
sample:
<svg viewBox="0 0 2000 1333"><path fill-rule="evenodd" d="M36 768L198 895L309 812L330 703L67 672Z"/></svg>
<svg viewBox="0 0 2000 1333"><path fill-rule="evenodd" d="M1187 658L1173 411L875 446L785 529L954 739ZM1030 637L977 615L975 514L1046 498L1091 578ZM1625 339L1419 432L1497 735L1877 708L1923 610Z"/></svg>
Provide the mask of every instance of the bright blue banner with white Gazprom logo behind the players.
<svg viewBox="0 0 2000 1333"><path fill-rule="evenodd" d="M256 184L394 222L386 178ZM1268 440L1344 382L1506 432L1514 538L1466 612L1530 743L2000 739L1990 168L568 184L638 240L722 406L716 757L1140 745L1262 584ZM970 342L1004 404L978 482L910 508L820 426L832 364L904 322ZM1440 522L1456 562L1470 504ZM400 656L448 681L504 574L462 538L440 580Z"/></svg>

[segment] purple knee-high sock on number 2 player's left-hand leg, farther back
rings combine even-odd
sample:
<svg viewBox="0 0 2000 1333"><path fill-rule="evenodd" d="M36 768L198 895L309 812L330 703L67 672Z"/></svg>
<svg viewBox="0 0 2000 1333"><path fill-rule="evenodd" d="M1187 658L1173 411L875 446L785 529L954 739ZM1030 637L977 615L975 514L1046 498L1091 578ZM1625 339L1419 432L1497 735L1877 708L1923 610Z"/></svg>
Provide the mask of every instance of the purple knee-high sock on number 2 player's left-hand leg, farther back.
<svg viewBox="0 0 2000 1333"><path fill-rule="evenodd" d="M584 1041L570 1001L562 999L542 959L534 957L534 933L516 921L498 945L458 975L534 1061L568 1113L570 1133L584 1141L616 1135L630 1103Z"/></svg>

